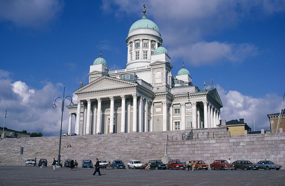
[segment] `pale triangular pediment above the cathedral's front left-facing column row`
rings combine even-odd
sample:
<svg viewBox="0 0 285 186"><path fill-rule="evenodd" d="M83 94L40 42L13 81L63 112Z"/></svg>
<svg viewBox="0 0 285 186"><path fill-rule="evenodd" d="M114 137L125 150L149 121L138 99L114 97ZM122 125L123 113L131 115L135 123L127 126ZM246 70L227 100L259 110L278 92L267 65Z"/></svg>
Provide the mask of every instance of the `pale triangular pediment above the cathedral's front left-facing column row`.
<svg viewBox="0 0 285 186"><path fill-rule="evenodd" d="M130 86L137 86L137 83L112 78L109 76L102 76L89 84L79 88L78 90L74 91L75 94L81 92L96 92L101 90L110 90L110 89L120 89Z"/></svg>

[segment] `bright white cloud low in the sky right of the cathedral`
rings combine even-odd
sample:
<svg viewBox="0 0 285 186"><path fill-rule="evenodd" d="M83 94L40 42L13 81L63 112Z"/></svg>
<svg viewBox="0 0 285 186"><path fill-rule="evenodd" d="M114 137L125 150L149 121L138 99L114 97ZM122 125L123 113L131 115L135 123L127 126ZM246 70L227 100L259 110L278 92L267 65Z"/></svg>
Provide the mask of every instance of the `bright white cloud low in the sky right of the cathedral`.
<svg viewBox="0 0 285 186"><path fill-rule="evenodd" d="M236 90L226 91L217 85L223 108L221 118L230 120L245 119L245 123L252 128L253 117L255 118L255 130L270 129L267 114L279 112L282 98L275 94L266 94L262 98L254 98L241 94ZM273 130L273 129L272 129Z"/></svg>

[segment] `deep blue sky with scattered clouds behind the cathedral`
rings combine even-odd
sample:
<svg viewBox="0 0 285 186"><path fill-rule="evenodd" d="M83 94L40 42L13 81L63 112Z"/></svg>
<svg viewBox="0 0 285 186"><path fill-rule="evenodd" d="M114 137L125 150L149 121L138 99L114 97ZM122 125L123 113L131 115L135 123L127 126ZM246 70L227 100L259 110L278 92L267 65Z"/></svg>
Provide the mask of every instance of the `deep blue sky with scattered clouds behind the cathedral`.
<svg viewBox="0 0 285 186"><path fill-rule="evenodd" d="M54 99L88 82L99 50L110 70L125 67L143 4L173 74L184 61L194 85L213 78L221 118L270 128L266 114L279 112L284 94L285 1L0 1L0 126L7 109L8 128L58 135Z"/></svg>

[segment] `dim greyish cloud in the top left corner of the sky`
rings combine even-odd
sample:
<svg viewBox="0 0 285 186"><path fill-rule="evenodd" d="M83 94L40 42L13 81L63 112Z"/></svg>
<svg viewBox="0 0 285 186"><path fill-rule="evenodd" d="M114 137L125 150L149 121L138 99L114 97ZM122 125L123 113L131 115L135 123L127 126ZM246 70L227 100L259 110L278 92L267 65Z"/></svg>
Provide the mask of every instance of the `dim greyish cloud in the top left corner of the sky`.
<svg viewBox="0 0 285 186"><path fill-rule="evenodd" d="M8 21L17 27L44 27L56 19L64 3L59 0L10 0L0 1L0 20Z"/></svg>

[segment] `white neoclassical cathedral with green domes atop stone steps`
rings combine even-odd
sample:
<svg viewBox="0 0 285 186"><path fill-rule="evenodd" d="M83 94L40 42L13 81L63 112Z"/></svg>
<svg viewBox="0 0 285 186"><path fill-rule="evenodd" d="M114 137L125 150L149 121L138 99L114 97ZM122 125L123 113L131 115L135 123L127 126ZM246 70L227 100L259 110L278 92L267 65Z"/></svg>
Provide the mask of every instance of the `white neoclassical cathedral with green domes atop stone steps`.
<svg viewBox="0 0 285 186"><path fill-rule="evenodd" d="M131 26L125 69L109 71L100 56L90 65L89 83L74 91L69 109L78 135L214 128L223 104L215 88L200 90L184 68L175 75L157 25L142 19ZM110 122L112 121L112 122Z"/></svg>

